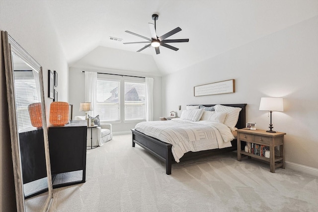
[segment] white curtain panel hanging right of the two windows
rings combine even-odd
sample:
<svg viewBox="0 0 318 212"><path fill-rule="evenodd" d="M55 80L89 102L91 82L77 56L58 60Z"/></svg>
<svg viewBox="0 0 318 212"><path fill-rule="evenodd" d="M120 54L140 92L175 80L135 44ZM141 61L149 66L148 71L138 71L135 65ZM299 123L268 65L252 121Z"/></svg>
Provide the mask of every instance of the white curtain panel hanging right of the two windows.
<svg viewBox="0 0 318 212"><path fill-rule="evenodd" d="M154 78L146 77L146 121L154 120Z"/></svg>

